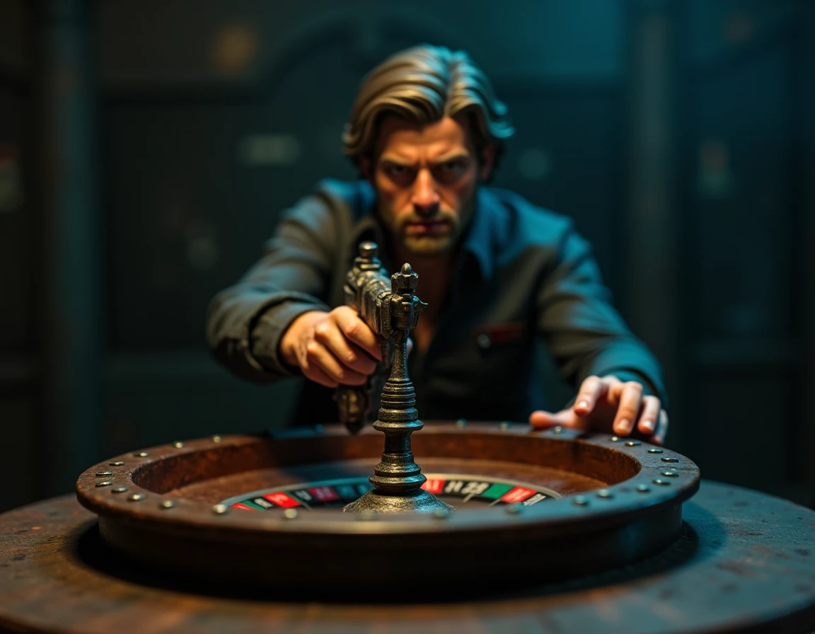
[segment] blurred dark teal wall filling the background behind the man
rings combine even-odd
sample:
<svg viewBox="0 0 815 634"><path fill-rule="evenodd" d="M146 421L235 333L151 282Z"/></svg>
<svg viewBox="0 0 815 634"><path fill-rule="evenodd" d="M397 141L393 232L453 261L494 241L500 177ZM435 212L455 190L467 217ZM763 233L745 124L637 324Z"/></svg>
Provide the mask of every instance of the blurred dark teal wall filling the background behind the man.
<svg viewBox="0 0 815 634"><path fill-rule="evenodd" d="M70 192L40 160L49 108L65 108L38 88L53 77L55 4L77 9L60 33L93 51L75 68L92 80L79 106L94 122L81 154L92 218L60 207ZM205 307L286 205L319 178L354 178L339 137L355 88L416 42L465 48L508 103L518 134L495 184L571 215L593 242L617 306L663 361L669 444L706 477L813 504L812 8L505 5L0 0L0 421L14 447L0 477L40 474L0 508L68 491L66 473L123 451L285 425L297 381L248 385L218 368ZM59 218L81 218L95 245L99 279L65 280L90 297L68 312L99 324L82 334L98 357L85 383L65 376L77 352L52 363L38 338L58 339L47 317L64 301L62 264L45 257L45 231ZM571 390L550 383L564 403Z"/></svg>

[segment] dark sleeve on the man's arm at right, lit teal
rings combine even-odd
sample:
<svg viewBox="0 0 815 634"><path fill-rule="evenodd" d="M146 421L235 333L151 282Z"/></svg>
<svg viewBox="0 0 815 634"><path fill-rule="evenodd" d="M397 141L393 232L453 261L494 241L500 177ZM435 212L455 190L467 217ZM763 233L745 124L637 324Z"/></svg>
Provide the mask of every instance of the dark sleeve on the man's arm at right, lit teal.
<svg viewBox="0 0 815 634"><path fill-rule="evenodd" d="M561 375L576 386L587 376L614 374L640 382L665 403L659 363L611 305L591 246L571 222L564 221L560 230L536 307L539 332Z"/></svg>

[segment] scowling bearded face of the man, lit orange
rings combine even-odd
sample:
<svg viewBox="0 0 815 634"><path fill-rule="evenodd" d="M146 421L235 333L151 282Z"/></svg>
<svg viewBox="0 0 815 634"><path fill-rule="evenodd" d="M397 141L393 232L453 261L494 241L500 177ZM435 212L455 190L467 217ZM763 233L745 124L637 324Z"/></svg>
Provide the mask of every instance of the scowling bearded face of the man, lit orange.
<svg viewBox="0 0 815 634"><path fill-rule="evenodd" d="M390 115L373 161L363 161L382 222L408 253L434 257L456 244L473 216L479 161L465 117L418 125Z"/></svg>

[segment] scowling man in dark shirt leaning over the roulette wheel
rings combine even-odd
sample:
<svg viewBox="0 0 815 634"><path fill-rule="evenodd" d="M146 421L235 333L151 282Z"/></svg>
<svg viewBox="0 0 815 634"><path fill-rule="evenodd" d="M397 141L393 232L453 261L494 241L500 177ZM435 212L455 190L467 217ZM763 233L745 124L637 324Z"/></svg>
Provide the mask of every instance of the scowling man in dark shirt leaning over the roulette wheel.
<svg viewBox="0 0 815 634"><path fill-rule="evenodd" d="M254 381L302 374L297 419L337 420L337 385L362 385L376 335L343 306L357 244L393 272L410 262L427 302L409 371L421 418L528 420L663 442L659 365L610 306L571 222L485 187L507 110L463 52L418 46L363 80L343 136L356 183L325 181L284 214L263 258L214 298L215 356ZM535 337L577 390L544 407Z"/></svg>

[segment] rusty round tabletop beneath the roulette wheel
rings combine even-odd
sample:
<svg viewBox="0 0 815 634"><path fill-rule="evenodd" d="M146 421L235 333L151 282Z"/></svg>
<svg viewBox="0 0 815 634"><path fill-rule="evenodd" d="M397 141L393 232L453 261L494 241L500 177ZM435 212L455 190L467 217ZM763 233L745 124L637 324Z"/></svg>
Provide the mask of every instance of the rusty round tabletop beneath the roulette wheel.
<svg viewBox="0 0 815 634"><path fill-rule="evenodd" d="M815 630L813 511L756 491L703 482L685 503L684 518L672 547L623 570L487 595L448 588L383 605L368 603L364 587L351 589L350 598L315 601L310 595L270 597L252 588L146 575L100 550L95 517L64 496L0 516L0 629L81 634ZM218 557L217 549L212 556Z"/></svg>

